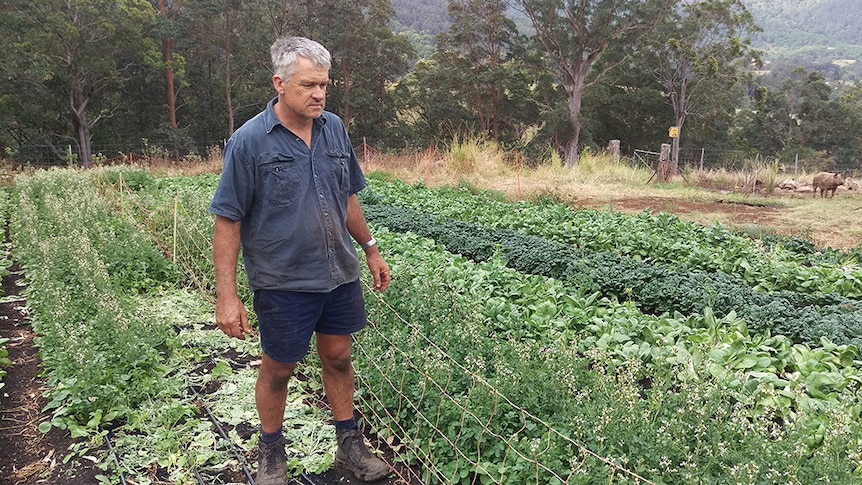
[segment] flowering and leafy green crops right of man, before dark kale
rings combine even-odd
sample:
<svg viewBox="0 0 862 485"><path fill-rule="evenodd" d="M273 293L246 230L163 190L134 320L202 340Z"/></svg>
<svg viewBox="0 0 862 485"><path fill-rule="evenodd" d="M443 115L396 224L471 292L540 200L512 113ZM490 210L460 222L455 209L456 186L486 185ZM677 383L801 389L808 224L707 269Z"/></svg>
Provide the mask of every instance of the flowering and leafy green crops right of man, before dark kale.
<svg viewBox="0 0 862 485"><path fill-rule="evenodd" d="M749 335L732 316L643 315L494 257L374 232L395 279L386 305L369 305L358 374L377 432L435 471L426 483L631 479L578 445L655 483L862 472L862 362L849 347Z"/></svg>

